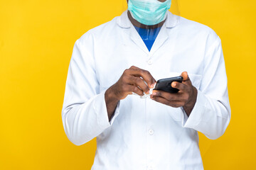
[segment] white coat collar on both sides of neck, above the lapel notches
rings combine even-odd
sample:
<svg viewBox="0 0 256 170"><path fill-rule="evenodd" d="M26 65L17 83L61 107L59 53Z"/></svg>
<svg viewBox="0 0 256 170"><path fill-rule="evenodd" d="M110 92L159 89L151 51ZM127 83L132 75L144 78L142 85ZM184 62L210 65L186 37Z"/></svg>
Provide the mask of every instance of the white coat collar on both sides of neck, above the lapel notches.
<svg viewBox="0 0 256 170"><path fill-rule="evenodd" d="M173 28L178 24L178 16L174 15L170 11L167 11L167 17L164 26L166 28ZM122 28L130 28L132 26L131 21L129 21L127 10L122 13L121 16L117 18L117 24Z"/></svg>

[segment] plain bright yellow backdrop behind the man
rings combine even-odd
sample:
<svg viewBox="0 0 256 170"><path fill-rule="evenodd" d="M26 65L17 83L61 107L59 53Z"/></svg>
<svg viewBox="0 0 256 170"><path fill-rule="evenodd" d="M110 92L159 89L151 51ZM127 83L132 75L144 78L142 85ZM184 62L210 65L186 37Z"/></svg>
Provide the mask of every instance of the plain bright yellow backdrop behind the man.
<svg viewBox="0 0 256 170"><path fill-rule="evenodd" d="M223 43L232 116L218 140L200 135L205 169L256 169L255 4L173 1L171 11ZM68 64L75 40L125 8L124 0L0 0L0 169L90 169L95 140L73 145L61 121Z"/></svg>

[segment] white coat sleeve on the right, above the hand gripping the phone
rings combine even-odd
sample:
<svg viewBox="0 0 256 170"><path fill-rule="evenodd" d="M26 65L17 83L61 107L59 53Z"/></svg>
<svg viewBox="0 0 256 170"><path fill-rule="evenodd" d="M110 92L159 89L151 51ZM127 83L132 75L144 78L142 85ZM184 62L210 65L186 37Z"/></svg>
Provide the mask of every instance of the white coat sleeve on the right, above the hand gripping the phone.
<svg viewBox="0 0 256 170"><path fill-rule="evenodd" d="M228 80L218 35L206 49L203 77L193 111L189 117L183 113L183 128L193 128L212 140L223 135L228 127L231 116Z"/></svg>

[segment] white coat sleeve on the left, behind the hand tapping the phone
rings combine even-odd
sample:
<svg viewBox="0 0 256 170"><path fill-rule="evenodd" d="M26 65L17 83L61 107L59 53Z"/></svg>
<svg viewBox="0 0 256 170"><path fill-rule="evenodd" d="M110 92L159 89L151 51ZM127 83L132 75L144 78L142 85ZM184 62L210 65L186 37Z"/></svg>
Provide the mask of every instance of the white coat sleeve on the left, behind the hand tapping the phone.
<svg viewBox="0 0 256 170"><path fill-rule="evenodd" d="M82 41L82 42L81 42ZM119 103L109 122L105 91L100 92L90 35L75 42L68 67L62 108L63 127L68 139L82 145L109 128L119 114Z"/></svg>

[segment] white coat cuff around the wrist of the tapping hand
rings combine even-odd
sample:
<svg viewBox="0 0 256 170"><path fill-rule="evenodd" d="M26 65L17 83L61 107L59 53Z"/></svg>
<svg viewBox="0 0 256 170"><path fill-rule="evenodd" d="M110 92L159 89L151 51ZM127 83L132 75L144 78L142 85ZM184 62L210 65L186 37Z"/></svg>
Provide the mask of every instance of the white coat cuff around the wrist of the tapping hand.
<svg viewBox="0 0 256 170"><path fill-rule="evenodd" d="M109 121L108 115L107 115L107 106L105 101L105 92L107 89L102 91L100 94L98 94L93 101L93 108L95 110L95 113L97 115L97 123L102 128L108 128L114 123L114 119L117 118L117 115L119 115L119 104L120 101L117 103L117 108L115 109L111 120Z"/></svg>

